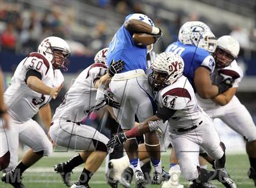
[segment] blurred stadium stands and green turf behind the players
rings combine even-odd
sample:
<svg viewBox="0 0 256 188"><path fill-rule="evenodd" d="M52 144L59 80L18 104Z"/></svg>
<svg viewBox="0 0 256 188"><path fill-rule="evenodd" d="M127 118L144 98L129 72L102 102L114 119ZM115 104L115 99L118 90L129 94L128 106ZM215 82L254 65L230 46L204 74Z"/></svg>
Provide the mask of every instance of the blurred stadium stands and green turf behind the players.
<svg viewBox="0 0 256 188"><path fill-rule="evenodd" d="M37 51L41 39L59 36L66 39L71 48L71 64L64 73L65 88L57 100L51 102L54 111L59 106L74 78L93 63L98 50L107 47L113 35L129 13L144 13L163 30L163 38L154 45L157 53L163 52L173 41L185 21L203 21L218 38L232 35L240 42L238 64L244 70L236 96L247 107L256 122L256 1L249 0L0 0L0 63L5 75L6 87L16 65L28 53ZM105 124L104 110L92 113L85 123L98 127L105 135L111 132L99 124ZM38 119L35 116L35 119ZM38 119L38 121L40 121ZM102 123L103 121L103 123ZM238 187L252 187L246 176L249 167L243 138L216 120L222 141L227 145L227 168L235 175ZM26 150L21 144L21 153ZM24 173L28 187L64 187L52 166L74 155L73 151L55 148L55 153L35 164ZM163 163L168 167L168 152L163 152ZM78 178L79 168L74 172ZM183 181L182 183L187 184ZM107 187L102 165L91 183L92 187ZM0 187L9 187L0 183ZM153 186L152 186L153 187ZM154 186L155 187L155 186Z"/></svg>

